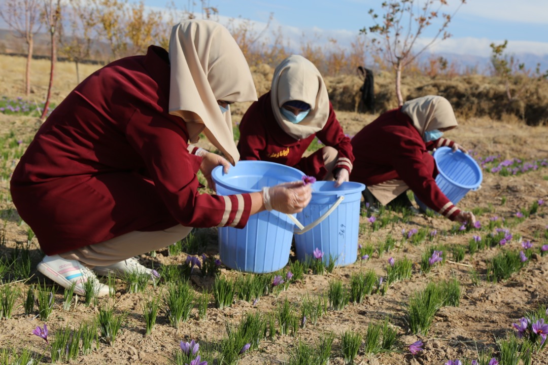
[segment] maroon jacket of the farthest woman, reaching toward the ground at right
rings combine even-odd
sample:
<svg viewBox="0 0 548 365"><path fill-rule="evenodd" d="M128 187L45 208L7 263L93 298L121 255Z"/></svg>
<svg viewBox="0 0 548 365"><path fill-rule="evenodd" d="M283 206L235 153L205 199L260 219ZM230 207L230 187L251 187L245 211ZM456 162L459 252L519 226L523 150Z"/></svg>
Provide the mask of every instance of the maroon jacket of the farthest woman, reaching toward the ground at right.
<svg viewBox="0 0 548 365"><path fill-rule="evenodd" d="M356 160L350 181L368 186L402 179L426 206L449 219L459 214L436 184L436 163L429 153L437 147L452 147L453 141L439 138L425 143L411 118L398 108L366 125L351 143Z"/></svg>

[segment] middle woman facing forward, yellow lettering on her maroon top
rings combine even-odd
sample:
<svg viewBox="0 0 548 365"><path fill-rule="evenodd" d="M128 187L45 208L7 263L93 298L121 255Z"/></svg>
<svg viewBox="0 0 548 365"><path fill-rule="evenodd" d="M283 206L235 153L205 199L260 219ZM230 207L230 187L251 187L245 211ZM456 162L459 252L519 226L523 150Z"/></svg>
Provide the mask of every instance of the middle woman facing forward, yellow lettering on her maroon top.
<svg viewBox="0 0 548 365"><path fill-rule="evenodd" d="M335 186L348 181L352 147L336 119L316 66L292 55L276 67L271 90L249 107L239 125L242 160L292 166ZM325 147L303 157L314 138Z"/></svg>

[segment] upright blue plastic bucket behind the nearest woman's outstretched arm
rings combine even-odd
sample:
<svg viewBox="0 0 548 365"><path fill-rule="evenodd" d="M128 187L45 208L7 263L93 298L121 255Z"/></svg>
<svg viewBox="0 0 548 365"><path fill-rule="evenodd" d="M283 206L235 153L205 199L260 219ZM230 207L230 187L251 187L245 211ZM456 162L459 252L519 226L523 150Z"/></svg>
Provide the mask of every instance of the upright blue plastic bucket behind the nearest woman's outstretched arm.
<svg viewBox="0 0 548 365"><path fill-rule="evenodd" d="M305 174L293 167L267 161L239 161L229 173L215 167L212 179L217 194L260 192L265 186L301 180ZM219 255L231 269L272 273L286 266L295 224L284 213L263 211L252 215L242 229L219 228Z"/></svg>

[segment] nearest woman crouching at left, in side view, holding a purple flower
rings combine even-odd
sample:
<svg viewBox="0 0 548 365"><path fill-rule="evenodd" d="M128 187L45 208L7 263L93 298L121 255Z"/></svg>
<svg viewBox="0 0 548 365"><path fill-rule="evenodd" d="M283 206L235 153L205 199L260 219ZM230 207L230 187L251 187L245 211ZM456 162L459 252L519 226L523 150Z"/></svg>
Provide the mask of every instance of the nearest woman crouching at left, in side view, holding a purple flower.
<svg viewBox="0 0 548 365"><path fill-rule="evenodd" d="M173 27L169 53L110 63L79 84L42 125L16 167L11 191L47 255L38 271L83 294L96 274L156 275L132 258L192 227L244 227L265 208L294 213L310 201L302 182L261 193L202 194L196 173L239 156L229 104L256 100L229 31L213 21ZM191 146L203 132L226 157Z"/></svg>

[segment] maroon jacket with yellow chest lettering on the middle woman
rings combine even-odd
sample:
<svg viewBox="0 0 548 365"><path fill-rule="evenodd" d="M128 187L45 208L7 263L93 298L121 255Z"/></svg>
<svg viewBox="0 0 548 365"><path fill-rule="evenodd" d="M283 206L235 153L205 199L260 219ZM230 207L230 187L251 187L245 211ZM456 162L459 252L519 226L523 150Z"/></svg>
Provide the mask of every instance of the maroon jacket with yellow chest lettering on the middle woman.
<svg viewBox="0 0 548 365"><path fill-rule="evenodd" d="M350 138L344 134L330 102L329 117L323 129L302 140L295 140L276 121L269 91L249 107L239 125L239 131L238 151L241 160L271 161L295 167L306 175L322 179L327 175L322 155L317 153L302 157L314 137L318 137L324 145L338 150L339 162L341 159L348 159L350 164L354 161ZM339 162L335 164L335 169L342 167L350 172L349 166Z"/></svg>

